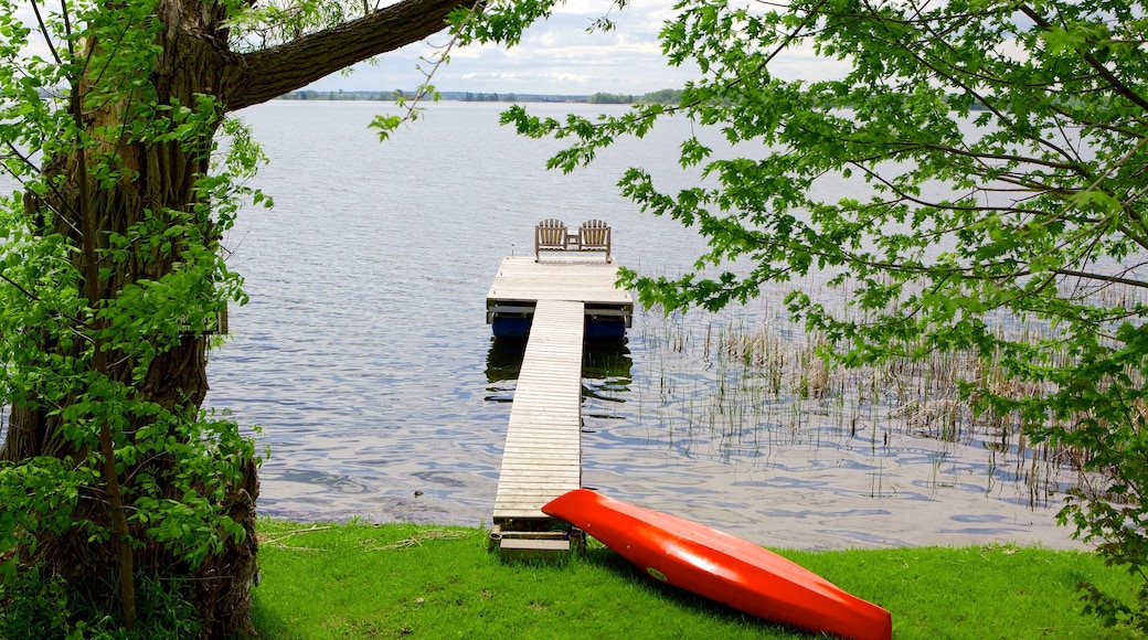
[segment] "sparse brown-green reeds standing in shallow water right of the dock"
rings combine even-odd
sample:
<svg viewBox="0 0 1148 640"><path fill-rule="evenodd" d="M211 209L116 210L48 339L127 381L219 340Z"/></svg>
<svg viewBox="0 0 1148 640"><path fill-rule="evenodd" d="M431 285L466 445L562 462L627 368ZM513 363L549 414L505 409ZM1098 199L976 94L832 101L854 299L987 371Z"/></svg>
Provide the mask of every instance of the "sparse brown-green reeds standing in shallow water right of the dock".
<svg viewBox="0 0 1148 640"><path fill-rule="evenodd" d="M917 344L906 349L925 357L832 367L823 336L806 334L768 306L752 315L692 319L654 309L642 320L639 338L656 369L651 389L639 390L649 398L643 409L662 428L684 434L707 428L715 442L736 442L742 450L868 442L875 455L899 435L937 443L934 465L945 444L961 444L985 452L992 476L1022 483L1031 506L1045 506L1083 481L1081 452L1029 442L1017 415L974 411L962 385L1013 398L1046 391L1009 380L992 358ZM1016 323L1002 322L998 330L1047 337L1040 327ZM1054 361L1068 357L1050 354ZM720 455L722 447L715 451Z"/></svg>

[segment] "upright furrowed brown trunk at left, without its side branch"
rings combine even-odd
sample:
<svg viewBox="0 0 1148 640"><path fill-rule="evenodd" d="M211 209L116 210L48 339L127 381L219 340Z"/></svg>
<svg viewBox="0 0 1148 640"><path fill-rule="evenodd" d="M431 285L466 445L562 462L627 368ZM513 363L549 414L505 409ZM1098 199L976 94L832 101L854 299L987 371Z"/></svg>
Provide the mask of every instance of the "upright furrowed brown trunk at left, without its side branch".
<svg viewBox="0 0 1148 640"><path fill-rule="evenodd" d="M174 3L162 6L178 8ZM187 26L186 17L183 26ZM186 29L165 33L164 55L152 78L161 104L171 104L173 101L194 104L195 93L219 86L224 69L219 64L220 56L207 45L208 40L195 34L195 30ZM90 131L96 131L115 124L115 119L123 115L124 109L111 104L86 112L84 124ZM222 118L223 114L218 117ZM113 141L108 143L111 145ZM115 143L124 179L110 186L101 186L94 179L88 179L86 188L82 188L84 175L79 171L80 164L91 162L95 155L95 150L87 149L84 154L54 158L46 167L49 174L62 173L67 177L63 187L54 195L42 200L26 198L31 212L41 211L44 219L53 221L54 231L69 237L76 247L84 242L82 229L94 229L95 249L101 256L99 266L107 274L99 279L95 294L90 296L95 298L96 307L100 306L100 301L114 299L132 283L158 281L172 271L173 260L180 252L178 247L168 252L140 247L122 260L113 262L102 251L107 249L109 234L127 236L129 229L144 224L149 216L162 216L170 223L185 213L187 218L181 218L180 221L187 224L189 220L199 227L199 233L186 234L180 241L202 239L212 250L217 250L214 244L218 241L211 219L196 219L193 214L193 205L196 203L193 187L196 178L209 169L209 157L203 149L210 148L210 138L192 146L185 142L150 143L132 139L122 139ZM85 206L80 205L80 198L86 198ZM90 226L85 226L80 219L83 216L90 218ZM86 264L88 257L83 251L75 251L72 255L77 273L90 274ZM153 339L152 336L140 338ZM73 352L71 356L78 353ZM107 365L103 368L108 377L134 388L138 398L156 403L183 415L188 422L196 419L208 391L207 345L202 335L188 335L174 346L162 350L141 378L133 375L138 362L129 354L111 350L104 359ZM132 419L123 427L123 431L130 436L144 427L147 420ZM14 408L9 436L2 451L3 458L20 461L37 455L79 455L72 440L64 436L63 422L60 414L51 414L44 409ZM160 482L163 483L164 478L174 477L179 473L179 465L180 461L174 456L158 455L141 460L134 468L121 470L119 478L124 479L123 504L130 506L133 498L127 478L147 474L149 477L161 478ZM119 537L113 536L107 543L96 546L87 544L82 531L41 543L37 560L46 562L55 575L64 577L77 590L90 590L84 595L92 601L119 594L116 588L109 587L116 584L113 576L124 565L134 568L134 573L150 573L162 580L191 578L187 580L191 586L185 596L197 607L207 634L219 637L236 632L251 633L254 630L249 629L248 610L250 587L257 570L255 500L258 497L258 479L253 461L245 465L243 469L245 477L228 485L224 505L217 507L242 524L246 538L241 543L227 538L222 553L210 555L194 570L163 545L150 540L144 524L133 524L127 529L135 548L126 564L119 555ZM110 495L113 490L107 483L104 486L104 493ZM181 498L174 491L166 493L164 497L169 499ZM108 530L115 530L115 502L109 504L109 500L99 495L92 498L80 502L77 515L101 523ZM132 621L134 614L127 614L132 608L122 606L125 621Z"/></svg>

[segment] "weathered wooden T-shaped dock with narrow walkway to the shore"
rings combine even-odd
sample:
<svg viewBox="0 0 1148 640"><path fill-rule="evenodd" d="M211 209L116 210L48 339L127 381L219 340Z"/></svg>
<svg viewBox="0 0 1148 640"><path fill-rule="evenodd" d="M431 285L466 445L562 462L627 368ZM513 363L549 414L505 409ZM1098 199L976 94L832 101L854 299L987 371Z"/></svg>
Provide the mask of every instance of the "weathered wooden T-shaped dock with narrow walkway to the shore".
<svg viewBox="0 0 1148 640"><path fill-rule="evenodd" d="M525 323L522 368L511 405L495 498L491 547L503 555L568 553L541 507L582 486L582 349L595 323L630 323L634 299L615 288L618 266L588 259L506 258L487 296L487 321ZM496 330L496 336L498 335Z"/></svg>

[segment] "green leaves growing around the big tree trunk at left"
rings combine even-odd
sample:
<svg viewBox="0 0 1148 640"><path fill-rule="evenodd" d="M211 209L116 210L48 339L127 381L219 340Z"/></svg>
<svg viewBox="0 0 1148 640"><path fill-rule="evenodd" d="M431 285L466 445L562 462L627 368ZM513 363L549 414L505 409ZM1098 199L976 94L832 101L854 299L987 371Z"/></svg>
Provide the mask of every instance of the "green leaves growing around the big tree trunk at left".
<svg viewBox="0 0 1148 640"><path fill-rule="evenodd" d="M219 239L241 202L265 201L243 182L262 155L211 96L162 101L142 81L157 65L154 9L65 3L33 32L0 2L0 154L24 192L0 198L0 406L59 426L34 435L42 454L0 461L2 600L10 585L37 585L32 593L48 598L40 612L52 612L45 623L62 625L46 635L78 624L79 611L115 610L106 594L82 604L85 590L65 592L76 567L45 562L51 551L87 545L100 565L101 547L156 545L196 568L245 537L224 498L255 456L251 438L189 399L160 401L145 390L161 354L202 342L228 301L245 301ZM153 167L137 154L164 147L193 163L212 158L212 170L189 177L181 206L146 194L138 219L94 237L85 226L93 218L131 219L130 205L109 194L145 184L140 174ZM83 164L86 179L72 181L64 158ZM102 201L114 202L110 211ZM98 263L82 258L88 250ZM6 452L26 427L9 423ZM117 529L116 512L131 533Z"/></svg>

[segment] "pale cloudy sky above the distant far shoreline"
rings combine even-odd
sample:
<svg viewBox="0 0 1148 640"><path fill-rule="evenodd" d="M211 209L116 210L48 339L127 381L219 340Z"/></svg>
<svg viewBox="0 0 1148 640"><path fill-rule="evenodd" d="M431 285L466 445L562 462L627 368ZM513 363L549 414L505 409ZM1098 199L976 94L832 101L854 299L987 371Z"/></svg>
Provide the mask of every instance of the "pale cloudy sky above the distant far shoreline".
<svg viewBox="0 0 1148 640"><path fill-rule="evenodd" d="M455 49L448 65L435 72L439 91L475 93L533 93L585 95L598 92L635 94L681 88L697 77L693 69L670 67L661 55L658 32L673 15L674 0L631 0L614 8L610 18L616 29L588 33L596 18L610 10L610 0L567 0L550 19L533 25L522 42ZM350 75L335 73L308 88L317 91L411 89L422 81L418 67L429 69L419 56L432 56L443 46L445 33L383 54L375 65L359 64ZM770 69L781 77L819 78L825 61L796 52Z"/></svg>

